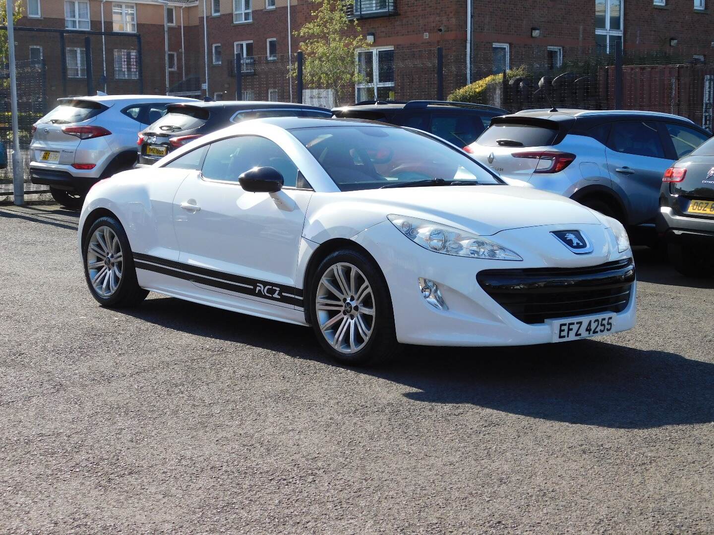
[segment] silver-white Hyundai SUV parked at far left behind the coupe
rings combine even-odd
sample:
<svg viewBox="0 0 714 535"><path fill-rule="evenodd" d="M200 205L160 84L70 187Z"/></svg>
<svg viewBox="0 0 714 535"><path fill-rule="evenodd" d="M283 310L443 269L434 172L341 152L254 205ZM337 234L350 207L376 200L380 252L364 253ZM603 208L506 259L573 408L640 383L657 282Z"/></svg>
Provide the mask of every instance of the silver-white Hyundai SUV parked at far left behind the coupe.
<svg viewBox="0 0 714 535"><path fill-rule="evenodd" d="M193 98L150 95L60 98L59 106L32 126L30 177L49 185L67 208L81 208L94 183L136 162L137 133L171 103Z"/></svg>

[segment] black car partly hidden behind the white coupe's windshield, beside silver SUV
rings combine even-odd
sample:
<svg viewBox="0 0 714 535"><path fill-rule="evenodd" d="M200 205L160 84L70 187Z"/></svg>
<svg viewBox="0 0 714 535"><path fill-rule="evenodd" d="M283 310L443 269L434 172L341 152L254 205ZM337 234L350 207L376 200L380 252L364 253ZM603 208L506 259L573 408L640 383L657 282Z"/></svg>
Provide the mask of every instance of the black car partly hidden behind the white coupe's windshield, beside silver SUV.
<svg viewBox="0 0 714 535"><path fill-rule="evenodd" d="M494 117L508 111L494 106L451 101L377 101L334 108L333 116L369 119L433 133L458 148L471 145Z"/></svg>

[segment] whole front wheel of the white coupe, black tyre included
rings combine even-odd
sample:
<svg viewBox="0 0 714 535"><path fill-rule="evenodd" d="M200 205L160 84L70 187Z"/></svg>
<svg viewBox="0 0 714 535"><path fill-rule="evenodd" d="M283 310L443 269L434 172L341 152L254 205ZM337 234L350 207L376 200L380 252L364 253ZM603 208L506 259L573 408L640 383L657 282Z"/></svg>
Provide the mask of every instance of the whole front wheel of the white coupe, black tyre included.
<svg viewBox="0 0 714 535"><path fill-rule="evenodd" d="M398 352L386 280L363 253L346 249L328 255L311 279L308 298L315 335L334 360L368 366Z"/></svg>

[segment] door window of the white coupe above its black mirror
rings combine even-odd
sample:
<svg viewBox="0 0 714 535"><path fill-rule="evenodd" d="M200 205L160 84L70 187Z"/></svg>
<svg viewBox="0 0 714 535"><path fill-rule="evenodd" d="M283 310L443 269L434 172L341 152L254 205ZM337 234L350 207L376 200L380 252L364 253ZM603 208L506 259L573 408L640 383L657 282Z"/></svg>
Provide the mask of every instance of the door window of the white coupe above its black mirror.
<svg viewBox="0 0 714 535"><path fill-rule="evenodd" d="M258 136L238 136L211 143L201 173L210 180L238 182L238 177L254 167L280 171L284 185L295 188L298 168L276 143Z"/></svg>

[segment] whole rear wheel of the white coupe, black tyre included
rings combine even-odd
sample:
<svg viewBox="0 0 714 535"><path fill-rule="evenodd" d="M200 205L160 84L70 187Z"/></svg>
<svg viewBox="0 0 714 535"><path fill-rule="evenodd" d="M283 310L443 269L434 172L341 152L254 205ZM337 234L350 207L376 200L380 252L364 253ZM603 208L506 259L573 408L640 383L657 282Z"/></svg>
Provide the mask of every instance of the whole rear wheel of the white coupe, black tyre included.
<svg viewBox="0 0 714 535"><path fill-rule="evenodd" d="M131 307L149 294L136 281L129 240L115 218L99 218L91 225L82 245L82 259L89 292L100 305Z"/></svg>

